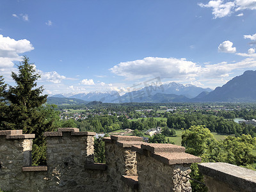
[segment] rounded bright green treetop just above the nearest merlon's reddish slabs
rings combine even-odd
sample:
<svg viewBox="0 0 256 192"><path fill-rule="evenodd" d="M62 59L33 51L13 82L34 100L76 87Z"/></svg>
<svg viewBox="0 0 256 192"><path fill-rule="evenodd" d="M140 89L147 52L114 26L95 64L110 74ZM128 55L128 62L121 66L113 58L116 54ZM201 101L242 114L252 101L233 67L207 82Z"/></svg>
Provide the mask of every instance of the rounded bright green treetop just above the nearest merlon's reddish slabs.
<svg viewBox="0 0 256 192"><path fill-rule="evenodd" d="M182 132L181 137L181 145L186 147L186 152L194 156L202 156L207 148L207 143L212 140L213 135L209 129L199 125L185 130Z"/></svg>

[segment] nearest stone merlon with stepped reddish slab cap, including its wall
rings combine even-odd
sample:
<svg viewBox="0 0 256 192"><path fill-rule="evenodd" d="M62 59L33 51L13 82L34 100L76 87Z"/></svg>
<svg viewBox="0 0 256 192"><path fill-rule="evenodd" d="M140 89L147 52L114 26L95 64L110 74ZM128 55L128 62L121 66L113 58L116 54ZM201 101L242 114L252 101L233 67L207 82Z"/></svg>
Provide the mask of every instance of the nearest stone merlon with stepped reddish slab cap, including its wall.
<svg viewBox="0 0 256 192"><path fill-rule="evenodd" d="M143 143L132 150L137 152L139 191L191 191L189 179L182 175L189 177L190 164L200 163L200 157L172 144Z"/></svg>

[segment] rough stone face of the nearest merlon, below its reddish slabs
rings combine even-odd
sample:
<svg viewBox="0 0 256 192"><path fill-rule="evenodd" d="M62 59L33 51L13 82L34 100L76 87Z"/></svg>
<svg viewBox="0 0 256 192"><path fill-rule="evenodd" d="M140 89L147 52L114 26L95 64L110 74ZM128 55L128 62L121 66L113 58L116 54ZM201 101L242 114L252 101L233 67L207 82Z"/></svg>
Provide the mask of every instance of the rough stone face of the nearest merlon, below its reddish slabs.
<svg viewBox="0 0 256 192"><path fill-rule="evenodd" d="M189 179L182 177L191 172L189 164L164 164L143 154L137 154L137 163L139 191L191 191Z"/></svg>

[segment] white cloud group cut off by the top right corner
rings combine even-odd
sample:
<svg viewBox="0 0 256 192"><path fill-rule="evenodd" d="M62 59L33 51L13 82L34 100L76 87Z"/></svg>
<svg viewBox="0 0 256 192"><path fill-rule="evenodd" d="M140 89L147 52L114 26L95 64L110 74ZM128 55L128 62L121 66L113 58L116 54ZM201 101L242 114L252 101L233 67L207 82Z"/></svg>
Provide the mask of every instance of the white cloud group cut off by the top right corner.
<svg viewBox="0 0 256 192"><path fill-rule="evenodd" d="M212 15L214 19L229 16L239 10L256 10L256 0L235 0L235 1L223 1L223 0L212 0L207 4L199 3L201 7L212 8ZM240 13L237 16L243 16Z"/></svg>

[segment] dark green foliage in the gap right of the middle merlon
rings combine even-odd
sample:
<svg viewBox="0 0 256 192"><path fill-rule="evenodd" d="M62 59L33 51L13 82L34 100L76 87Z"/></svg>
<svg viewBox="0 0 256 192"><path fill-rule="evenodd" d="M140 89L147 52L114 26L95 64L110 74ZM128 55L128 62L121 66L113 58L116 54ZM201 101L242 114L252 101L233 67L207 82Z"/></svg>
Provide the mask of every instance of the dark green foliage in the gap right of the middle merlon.
<svg viewBox="0 0 256 192"><path fill-rule="evenodd" d="M94 162L106 163L105 142L102 141L101 137L94 139Z"/></svg>

